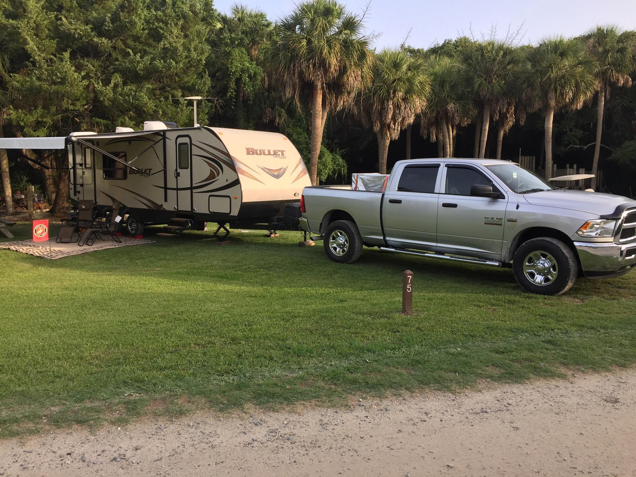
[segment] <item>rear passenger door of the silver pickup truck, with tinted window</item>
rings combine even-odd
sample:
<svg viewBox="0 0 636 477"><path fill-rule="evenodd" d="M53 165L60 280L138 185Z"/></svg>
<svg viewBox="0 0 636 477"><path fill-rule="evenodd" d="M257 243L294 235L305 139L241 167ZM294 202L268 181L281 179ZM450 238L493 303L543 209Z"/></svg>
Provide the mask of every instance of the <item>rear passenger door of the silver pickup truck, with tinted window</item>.
<svg viewBox="0 0 636 477"><path fill-rule="evenodd" d="M396 190L385 193L382 220L390 245L425 248L436 244L439 166L406 165Z"/></svg>

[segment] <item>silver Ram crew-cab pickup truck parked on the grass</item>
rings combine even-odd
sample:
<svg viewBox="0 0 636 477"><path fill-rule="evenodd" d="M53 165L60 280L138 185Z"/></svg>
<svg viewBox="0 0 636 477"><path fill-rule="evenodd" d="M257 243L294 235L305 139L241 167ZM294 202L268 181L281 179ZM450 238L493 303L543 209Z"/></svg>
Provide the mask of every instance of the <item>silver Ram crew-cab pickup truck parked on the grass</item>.
<svg viewBox="0 0 636 477"><path fill-rule="evenodd" d="M579 274L623 275L636 265L636 202L554 188L516 163L397 162L384 191L303 190L301 230L327 256L356 261L363 246L512 268L531 293L557 295Z"/></svg>

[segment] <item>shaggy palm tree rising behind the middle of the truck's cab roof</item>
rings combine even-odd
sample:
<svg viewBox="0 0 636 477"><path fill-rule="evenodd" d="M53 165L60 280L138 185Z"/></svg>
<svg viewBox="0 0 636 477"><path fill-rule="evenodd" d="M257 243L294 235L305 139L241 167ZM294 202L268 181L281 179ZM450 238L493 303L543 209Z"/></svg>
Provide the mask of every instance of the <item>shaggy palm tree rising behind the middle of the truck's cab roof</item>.
<svg viewBox="0 0 636 477"><path fill-rule="evenodd" d="M428 135L431 141L438 142L438 154L442 157L453 156L457 127L466 125L474 114L465 71L450 57L432 56L427 62L431 93L420 130L424 137Z"/></svg>

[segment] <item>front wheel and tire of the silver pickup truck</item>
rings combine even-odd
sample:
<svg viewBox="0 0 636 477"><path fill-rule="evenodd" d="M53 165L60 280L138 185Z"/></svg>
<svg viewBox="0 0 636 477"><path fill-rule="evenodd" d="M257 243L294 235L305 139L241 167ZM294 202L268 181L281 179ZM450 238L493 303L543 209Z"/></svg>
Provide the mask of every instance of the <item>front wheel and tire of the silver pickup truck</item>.
<svg viewBox="0 0 636 477"><path fill-rule="evenodd" d="M513 272L525 291L554 296L574 285L578 264L572 249L561 240L541 237L523 242L516 249Z"/></svg>

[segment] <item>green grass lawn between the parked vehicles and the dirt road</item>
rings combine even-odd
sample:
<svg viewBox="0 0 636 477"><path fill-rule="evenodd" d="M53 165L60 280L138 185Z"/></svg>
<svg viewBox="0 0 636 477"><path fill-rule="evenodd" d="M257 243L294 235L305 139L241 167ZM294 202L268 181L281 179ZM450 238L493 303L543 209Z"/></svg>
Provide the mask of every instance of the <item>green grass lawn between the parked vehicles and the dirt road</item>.
<svg viewBox="0 0 636 477"><path fill-rule="evenodd" d="M298 247L299 233L261 233L55 261L0 250L0 436L636 361L636 273L546 298L511 270L375 249L338 265L320 243ZM399 314L407 268L412 316Z"/></svg>

